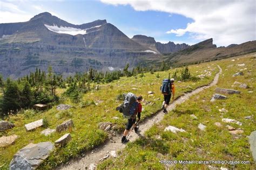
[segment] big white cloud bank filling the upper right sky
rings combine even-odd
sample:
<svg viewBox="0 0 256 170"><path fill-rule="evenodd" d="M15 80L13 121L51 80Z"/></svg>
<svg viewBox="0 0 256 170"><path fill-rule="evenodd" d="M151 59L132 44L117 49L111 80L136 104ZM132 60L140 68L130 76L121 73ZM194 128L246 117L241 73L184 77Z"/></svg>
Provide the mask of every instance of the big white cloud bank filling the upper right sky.
<svg viewBox="0 0 256 170"><path fill-rule="evenodd" d="M256 1L132 1L101 0L112 5L131 5L137 11L177 13L193 19L186 28L171 29L166 33L183 36L189 33L197 40L213 38L218 46L240 44L256 39Z"/></svg>

